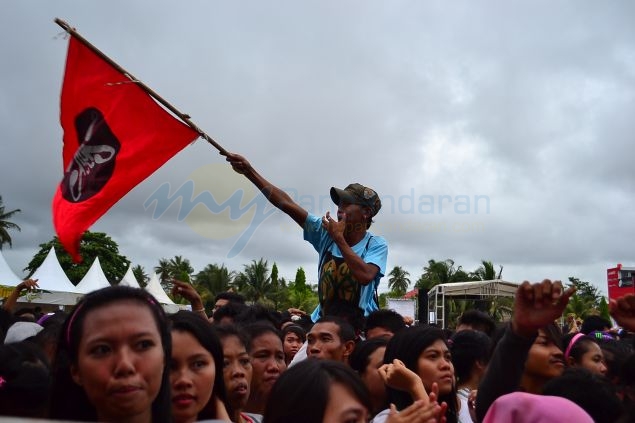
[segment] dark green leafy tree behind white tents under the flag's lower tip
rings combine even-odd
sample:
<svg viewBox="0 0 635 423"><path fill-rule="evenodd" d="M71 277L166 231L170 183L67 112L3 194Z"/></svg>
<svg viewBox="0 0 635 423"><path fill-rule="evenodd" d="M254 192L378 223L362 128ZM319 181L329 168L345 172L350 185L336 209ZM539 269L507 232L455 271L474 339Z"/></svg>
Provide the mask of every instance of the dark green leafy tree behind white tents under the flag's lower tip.
<svg viewBox="0 0 635 423"><path fill-rule="evenodd" d="M40 244L40 250L24 269L29 272L29 275L33 274L44 262L51 247L55 247L62 270L75 285L86 275L95 257L99 257L104 275L111 284L118 283L123 278L130 264L125 256L119 254L119 246L108 235L103 232L86 231L79 245L79 252L83 258L81 263L74 263L59 239L54 237L51 241Z"/></svg>

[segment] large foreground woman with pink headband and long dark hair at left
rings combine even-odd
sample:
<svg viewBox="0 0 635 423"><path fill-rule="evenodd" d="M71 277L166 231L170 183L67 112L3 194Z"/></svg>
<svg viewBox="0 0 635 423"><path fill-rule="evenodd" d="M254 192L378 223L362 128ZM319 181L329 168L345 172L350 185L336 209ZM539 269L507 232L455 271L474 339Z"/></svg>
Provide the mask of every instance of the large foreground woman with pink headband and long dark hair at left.
<svg viewBox="0 0 635 423"><path fill-rule="evenodd" d="M169 423L172 339L163 308L140 288L86 294L66 318L48 417Z"/></svg>

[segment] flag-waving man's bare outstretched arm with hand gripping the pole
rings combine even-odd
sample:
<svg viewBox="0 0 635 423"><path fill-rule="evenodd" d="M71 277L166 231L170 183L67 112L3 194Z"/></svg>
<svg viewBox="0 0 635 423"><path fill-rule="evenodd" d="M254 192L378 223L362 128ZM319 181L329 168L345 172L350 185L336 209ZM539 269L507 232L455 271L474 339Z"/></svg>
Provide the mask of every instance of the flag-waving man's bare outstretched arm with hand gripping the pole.
<svg viewBox="0 0 635 423"><path fill-rule="evenodd" d="M227 153L226 160L232 168L241 175L245 175L264 196L276 208L288 214L298 225L304 226L308 212L293 201L289 194L271 184L260 175L243 156L234 153Z"/></svg>

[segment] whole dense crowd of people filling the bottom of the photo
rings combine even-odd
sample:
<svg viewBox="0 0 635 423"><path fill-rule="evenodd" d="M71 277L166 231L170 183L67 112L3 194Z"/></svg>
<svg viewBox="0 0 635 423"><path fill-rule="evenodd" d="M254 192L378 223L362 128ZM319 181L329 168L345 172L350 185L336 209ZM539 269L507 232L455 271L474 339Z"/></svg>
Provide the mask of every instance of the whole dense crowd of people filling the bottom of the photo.
<svg viewBox="0 0 635 423"><path fill-rule="evenodd" d="M37 287L27 280L18 293ZM478 310L454 330L346 302L313 322L219 294L166 315L143 289L87 294L38 315L5 301L0 415L117 422L632 422L635 295L611 322L557 324L571 289L524 282L510 322ZM30 312L30 313L29 313ZM209 315L208 315L209 312ZM569 333L570 332L570 333Z"/></svg>

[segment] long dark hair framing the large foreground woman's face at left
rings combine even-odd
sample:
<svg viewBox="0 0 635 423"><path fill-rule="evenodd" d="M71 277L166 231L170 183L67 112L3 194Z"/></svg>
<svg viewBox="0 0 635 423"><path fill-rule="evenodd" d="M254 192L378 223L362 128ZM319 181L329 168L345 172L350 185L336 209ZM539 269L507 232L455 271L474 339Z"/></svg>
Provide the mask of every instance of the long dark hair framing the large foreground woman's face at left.
<svg viewBox="0 0 635 423"><path fill-rule="evenodd" d="M77 364L79 343L86 315L95 309L120 301L135 301L139 305L147 307L154 318L161 336L164 365L161 388L152 402L152 421L169 422L172 420L168 368L170 357L172 357L172 337L165 312L157 300L147 291L123 285L102 288L86 294L64 321L57 345L57 354L53 362L49 418L72 421L97 420L97 410L88 400L82 387L73 381L70 366Z"/></svg>

